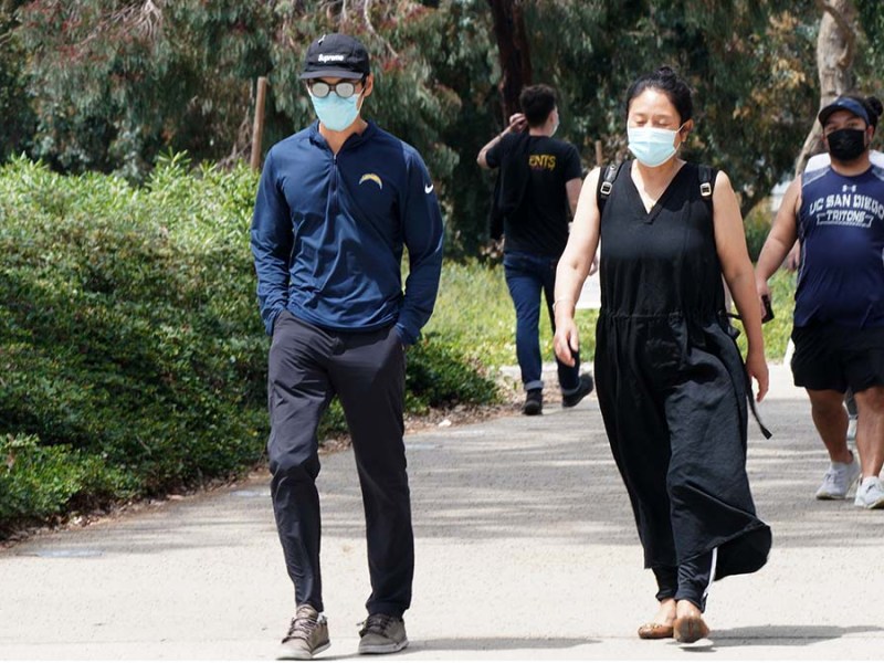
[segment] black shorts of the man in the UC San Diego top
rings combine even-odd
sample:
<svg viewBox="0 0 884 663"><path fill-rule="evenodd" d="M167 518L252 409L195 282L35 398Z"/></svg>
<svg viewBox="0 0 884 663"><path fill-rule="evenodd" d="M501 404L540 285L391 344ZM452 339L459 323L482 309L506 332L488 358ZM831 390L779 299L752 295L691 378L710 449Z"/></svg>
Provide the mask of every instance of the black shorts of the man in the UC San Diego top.
<svg viewBox="0 0 884 663"><path fill-rule="evenodd" d="M854 393L884 386L884 327L814 324L792 329L796 387Z"/></svg>

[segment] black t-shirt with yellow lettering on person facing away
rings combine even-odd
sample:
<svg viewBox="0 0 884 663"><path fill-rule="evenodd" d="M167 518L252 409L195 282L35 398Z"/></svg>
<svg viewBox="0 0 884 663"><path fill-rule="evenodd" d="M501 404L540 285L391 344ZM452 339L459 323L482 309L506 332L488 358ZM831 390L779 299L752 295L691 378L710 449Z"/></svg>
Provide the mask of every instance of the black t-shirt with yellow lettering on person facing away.
<svg viewBox="0 0 884 663"><path fill-rule="evenodd" d="M488 166L499 167L517 140L517 134L498 140L485 155ZM580 155L570 143L548 136L530 136L527 152L530 175L519 207L504 220L504 250L558 257L571 219L565 183L582 177Z"/></svg>

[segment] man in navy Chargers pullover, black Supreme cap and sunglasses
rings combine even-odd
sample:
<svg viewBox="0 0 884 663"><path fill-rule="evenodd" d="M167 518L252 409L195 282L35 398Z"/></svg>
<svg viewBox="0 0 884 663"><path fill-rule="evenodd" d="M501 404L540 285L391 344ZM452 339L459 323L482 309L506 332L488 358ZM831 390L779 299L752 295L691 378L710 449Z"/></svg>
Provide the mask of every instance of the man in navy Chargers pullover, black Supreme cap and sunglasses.
<svg viewBox="0 0 884 663"><path fill-rule="evenodd" d="M406 347L433 311L442 217L418 151L361 117L373 87L361 43L343 34L314 41L301 78L318 122L267 154L251 233L261 315L273 337L273 509L295 586L296 614L280 657L311 659L329 644L316 429L336 394L366 513L371 594L359 652L396 652L408 645L402 613L414 567L402 441Z"/></svg>

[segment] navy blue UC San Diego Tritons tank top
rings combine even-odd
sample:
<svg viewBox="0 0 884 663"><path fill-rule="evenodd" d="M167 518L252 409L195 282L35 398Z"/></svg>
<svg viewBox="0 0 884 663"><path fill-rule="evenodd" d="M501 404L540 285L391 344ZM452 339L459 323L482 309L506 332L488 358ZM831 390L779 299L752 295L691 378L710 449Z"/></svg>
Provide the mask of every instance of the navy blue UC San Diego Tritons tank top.
<svg viewBox="0 0 884 663"><path fill-rule="evenodd" d="M884 327L884 168L853 177L829 166L806 173L798 236L796 327Z"/></svg>

